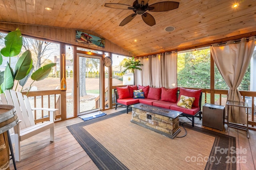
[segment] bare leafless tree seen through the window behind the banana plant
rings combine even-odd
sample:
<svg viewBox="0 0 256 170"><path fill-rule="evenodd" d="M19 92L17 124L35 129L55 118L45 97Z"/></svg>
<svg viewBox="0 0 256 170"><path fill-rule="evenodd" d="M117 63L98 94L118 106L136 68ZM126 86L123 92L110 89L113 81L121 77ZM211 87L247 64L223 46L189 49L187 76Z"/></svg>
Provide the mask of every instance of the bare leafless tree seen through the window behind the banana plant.
<svg viewBox="0 0 256 170"><path fill-rule="evenodd" d="M32 60L35 64L35 69L45 65L46 60L54 55L59 55L56 47L50 42L41 41L38 39L26 38L23 39L23 47L25 50L30 50Z"/></svg>

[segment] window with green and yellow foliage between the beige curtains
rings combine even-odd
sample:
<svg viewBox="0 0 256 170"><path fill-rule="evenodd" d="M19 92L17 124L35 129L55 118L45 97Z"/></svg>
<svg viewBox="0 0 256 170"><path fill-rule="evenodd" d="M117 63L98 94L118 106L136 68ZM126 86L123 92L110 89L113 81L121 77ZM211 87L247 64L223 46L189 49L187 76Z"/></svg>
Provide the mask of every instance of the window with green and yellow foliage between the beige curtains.
<svg viewBox="0 0 256 170"><path fill-rule="evenodd" d="M210 48L178 53L177 81L180 87L210 88Z"/></svg>

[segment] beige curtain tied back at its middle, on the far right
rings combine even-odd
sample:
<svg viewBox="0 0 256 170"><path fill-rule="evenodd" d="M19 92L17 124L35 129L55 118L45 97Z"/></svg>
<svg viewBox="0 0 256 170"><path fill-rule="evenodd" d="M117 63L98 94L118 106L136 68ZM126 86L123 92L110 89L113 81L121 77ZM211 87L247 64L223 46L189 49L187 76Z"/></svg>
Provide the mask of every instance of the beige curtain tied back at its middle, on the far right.
<svg viewBox="0 0 256 170"><path fill-rule="evenodd" d="M213 44L211 49L214 63L229 87L227 100L244 102L238 86L250 63L255 47L255 38L242 38L240 42L228 41L224 44ZM246 110L242 107L229 107L228 121L246 123Z"/></svg>

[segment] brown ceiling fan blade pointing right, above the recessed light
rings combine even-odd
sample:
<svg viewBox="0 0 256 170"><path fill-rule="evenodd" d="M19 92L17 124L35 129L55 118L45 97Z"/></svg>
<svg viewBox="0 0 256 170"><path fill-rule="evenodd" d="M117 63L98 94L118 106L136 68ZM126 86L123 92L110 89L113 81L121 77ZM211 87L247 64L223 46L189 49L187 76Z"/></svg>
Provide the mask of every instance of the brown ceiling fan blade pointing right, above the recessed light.
<svg viewBox="0 0 256 170"><path fill-rule="evenodd" d="M158 2L148 6L148 10L152 12L169 11L169 10L174 10L178 8L179 4L180 4L179 2L173 2L173 1Z"/></svg>

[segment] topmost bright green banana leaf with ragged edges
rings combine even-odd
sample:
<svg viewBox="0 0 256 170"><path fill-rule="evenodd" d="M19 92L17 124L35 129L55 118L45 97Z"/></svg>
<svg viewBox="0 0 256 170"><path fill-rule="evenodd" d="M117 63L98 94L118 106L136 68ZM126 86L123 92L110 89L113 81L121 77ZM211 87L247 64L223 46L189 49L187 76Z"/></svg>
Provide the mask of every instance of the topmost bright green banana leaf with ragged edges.
<svg viewBox="0 0 256 170"><path fill-rule="evenodd" d="M3 56L13 57L20 54L23 43L20 29L9 32L4 39L5 47L1 49Z"/></svg>

